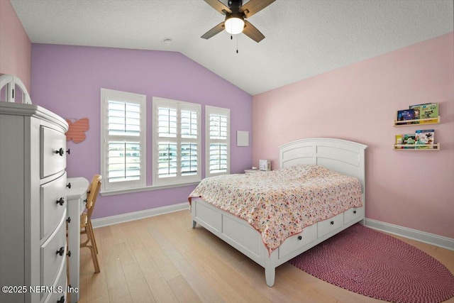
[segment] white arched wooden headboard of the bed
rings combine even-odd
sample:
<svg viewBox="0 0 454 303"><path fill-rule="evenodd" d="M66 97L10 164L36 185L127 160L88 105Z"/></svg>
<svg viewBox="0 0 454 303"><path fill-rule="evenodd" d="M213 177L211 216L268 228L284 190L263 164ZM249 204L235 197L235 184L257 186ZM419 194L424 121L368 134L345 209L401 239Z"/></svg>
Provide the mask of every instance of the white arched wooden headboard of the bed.
<svg viewBox="0 0 454 303"><path fill-rule="evenodd" d="M365 149L367 145L335 139L306 138L279 146L280 167L295 164L320 165L357 177L365 201Z"/></svg>

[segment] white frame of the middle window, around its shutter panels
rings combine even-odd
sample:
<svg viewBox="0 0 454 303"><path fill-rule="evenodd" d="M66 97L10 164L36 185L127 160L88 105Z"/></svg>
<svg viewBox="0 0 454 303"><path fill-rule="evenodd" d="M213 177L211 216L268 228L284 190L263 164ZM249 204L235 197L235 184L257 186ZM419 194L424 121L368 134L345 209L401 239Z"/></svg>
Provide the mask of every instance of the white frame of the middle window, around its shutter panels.
<svg viewBox="0 0 454 303"><path fill-rule="evenodd" d="M159 167L158 163L158 152L159 152L159 141L160 138L158 136L158 107L159 106L175 106L177 108L177 138L172 138L171 141L175 141L177 145L180 145L184 142L184 140L189 140L196 142L197 144L197 172L196 175L188 175L182 176L181 175L181 167L177 165L177 176L176 177L165 177L159 178L158 173ZM181 137L181 111L182 110L192 110L197 112L197 138L196 139L187 139ZM152 173L152 182L153 186L155 187L165 187L165 186L178 186L182 184L191 184L193 182L199 182L201 180L201 170L202 170L202 158L201 158L201 150L202 150L202 142L201 142L201 104L196 104L192 102L186 101L178 101L172 99L165 99L161 97L153 97L153 173ZM181 148L177 148L179 152L181 152ZM181 155L177 157L177 163L181 161Z"/></svg>

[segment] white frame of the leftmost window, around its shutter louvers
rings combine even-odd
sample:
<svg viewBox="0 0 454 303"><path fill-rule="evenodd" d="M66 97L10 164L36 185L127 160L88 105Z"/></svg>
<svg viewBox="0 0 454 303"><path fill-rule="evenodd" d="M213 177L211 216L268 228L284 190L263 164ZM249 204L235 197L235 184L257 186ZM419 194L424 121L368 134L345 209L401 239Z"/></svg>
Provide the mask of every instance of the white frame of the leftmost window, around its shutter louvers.
<svg viewBox="0 0 454 303"><path fill-rule="evenodd" d="M109 110L109 99L126 101L140 105L140 179L134 181L109 182L107 158L109 150L109 138L128 138L128 136L109 136L109 123L107 114ZM116 91L114 89L101 88L101 175L104 177L101 183L101 192L119 192L128 189L146 187L147 176L147 150L146 150L146 96L131 92Z"/></svg>

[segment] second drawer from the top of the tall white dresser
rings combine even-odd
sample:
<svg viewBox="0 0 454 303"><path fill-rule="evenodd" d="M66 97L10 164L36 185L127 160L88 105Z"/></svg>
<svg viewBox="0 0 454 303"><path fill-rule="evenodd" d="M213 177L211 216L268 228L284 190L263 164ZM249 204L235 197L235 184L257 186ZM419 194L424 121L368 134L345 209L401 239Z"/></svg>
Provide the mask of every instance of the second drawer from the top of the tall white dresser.
<svg viewBox="0 0 454 303"><path fill-rule="evenodd" d="M41 185L40 194L40 238L45 238L57 227L67 206L66 172L61 177Z"/></svg>

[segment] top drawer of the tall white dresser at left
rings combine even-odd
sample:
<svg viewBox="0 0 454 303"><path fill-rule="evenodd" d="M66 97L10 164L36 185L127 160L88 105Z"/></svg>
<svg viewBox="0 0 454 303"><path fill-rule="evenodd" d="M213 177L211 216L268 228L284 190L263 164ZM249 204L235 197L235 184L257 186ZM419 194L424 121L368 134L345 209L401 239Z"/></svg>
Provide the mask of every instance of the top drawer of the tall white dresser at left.
<svg viewBox="0 0 454 303"><path fill-rule="evenodd" d="M66 136L60 131L41 126L40 177L48 177L65 170Z"/></svg>

